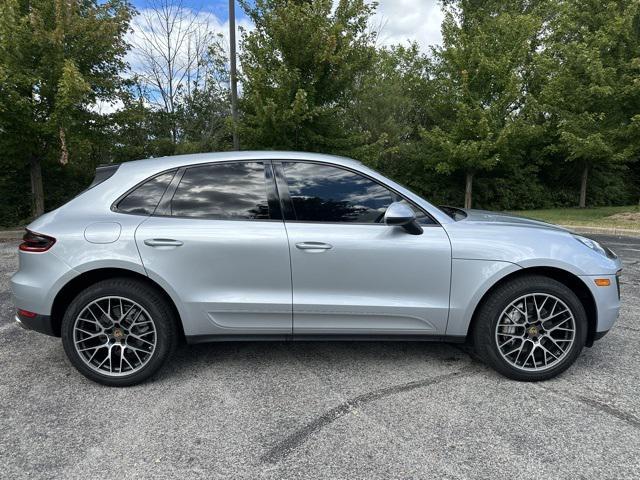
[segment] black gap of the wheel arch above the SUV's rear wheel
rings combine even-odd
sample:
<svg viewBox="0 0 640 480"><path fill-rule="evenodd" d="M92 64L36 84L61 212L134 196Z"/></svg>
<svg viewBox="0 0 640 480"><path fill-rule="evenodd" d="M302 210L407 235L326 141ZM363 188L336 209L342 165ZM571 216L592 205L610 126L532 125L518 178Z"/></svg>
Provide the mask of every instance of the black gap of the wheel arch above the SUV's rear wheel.
<svg viewBox="0 0 640 480"><path fill-rule="evenodd" d="M102 280L108 280L110 278L134 278L146 283L150 287L154 288L162 297L166 300L167 304L173 310L173 314L178 322L178 328L182 338L185 338L184 327L182 325L182 317L176 305L176 302L171 298L167 291L162 288L157 282L141 273L133 270L127 270L125 268L98 268L94 270L88 270L86 272L77 275L68 281L64 287L62 287L56 294L53 304L51 306L51 326L53 333L59 337L62 318L69 306L69 303L84 289Z"/></svg>

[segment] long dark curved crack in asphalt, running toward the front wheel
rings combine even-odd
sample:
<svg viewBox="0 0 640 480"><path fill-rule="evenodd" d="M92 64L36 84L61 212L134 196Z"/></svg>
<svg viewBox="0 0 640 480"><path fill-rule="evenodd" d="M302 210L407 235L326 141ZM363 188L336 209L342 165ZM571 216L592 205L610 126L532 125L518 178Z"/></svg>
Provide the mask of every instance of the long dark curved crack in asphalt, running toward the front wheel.
<svg viewBox="0 0 640 480"><path fill-rule="evenodd" d="M374 402L376 400L380 400L385 397L389 397L392 395L396 395L398 393L410 392L412 390L416 390L418 388L430 387L433 385L438 385L440 383L452 380L454 378L463 378L474 373L475 368L468 367L462 370L458 370L455 372L447 373L444 375L439 375L433 378L427 378L424 380L415 380L408 383L403 383L400 385L392 385L390 387L380 388L378 390L373 390L367 393L363 393L358 395L357 397L351 398L340 405L332 408L331 410L326 411L319 417L310 421L303 427L299 428L292 434L286 436L284 439L279 441L275 446L271 447L267 453L265 453L261 460L264 463L277 463L281 460L284 460L287 456L289 456L295 449L304 444L311 435L319 432L326 426L335 422L341 417L344 417L348 413L366 405L368 403Z"/></svg>

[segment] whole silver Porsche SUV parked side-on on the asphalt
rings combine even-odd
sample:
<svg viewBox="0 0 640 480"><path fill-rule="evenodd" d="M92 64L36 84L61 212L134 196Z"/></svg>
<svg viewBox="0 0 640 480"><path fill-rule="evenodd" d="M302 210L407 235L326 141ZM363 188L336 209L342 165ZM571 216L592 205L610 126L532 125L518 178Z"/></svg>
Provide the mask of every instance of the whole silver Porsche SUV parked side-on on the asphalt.
<svg viewBox="0 0 640 480"><path fill-rule="evenodd" d="M437 208L347 158L228 152L99 167L27 227L16 320L107 385L188 343L467 341L543 380L612 326L621 263L546 223Z"/></svg>

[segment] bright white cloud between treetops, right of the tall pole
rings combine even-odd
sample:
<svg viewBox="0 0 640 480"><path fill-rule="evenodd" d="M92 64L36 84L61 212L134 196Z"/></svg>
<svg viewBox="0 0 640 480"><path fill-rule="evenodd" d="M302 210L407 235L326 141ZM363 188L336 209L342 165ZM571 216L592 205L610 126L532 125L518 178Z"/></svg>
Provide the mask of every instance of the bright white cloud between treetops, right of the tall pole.
<svg viewBox="0 0 640 480"><path fill-rule="evenodd" d="M381 27L381 45L408 45L415 41L426 52L429 46L442 43L443 18L438 0L378 0L371 25L374 29Z"/></svg>

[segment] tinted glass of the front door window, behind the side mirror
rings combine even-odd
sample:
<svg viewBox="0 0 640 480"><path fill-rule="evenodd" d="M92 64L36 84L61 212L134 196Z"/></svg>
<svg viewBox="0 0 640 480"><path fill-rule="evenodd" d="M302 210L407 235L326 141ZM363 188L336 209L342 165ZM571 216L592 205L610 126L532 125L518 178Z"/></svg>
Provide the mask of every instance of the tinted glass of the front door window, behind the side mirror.
<svg viewBox="0 0 640 480"><path fill-rule="evenodd" d="M284 171L298 220L380 223L387 207L400 200L376 182L342 168L287 162Z"/></svg>

